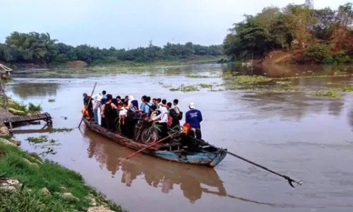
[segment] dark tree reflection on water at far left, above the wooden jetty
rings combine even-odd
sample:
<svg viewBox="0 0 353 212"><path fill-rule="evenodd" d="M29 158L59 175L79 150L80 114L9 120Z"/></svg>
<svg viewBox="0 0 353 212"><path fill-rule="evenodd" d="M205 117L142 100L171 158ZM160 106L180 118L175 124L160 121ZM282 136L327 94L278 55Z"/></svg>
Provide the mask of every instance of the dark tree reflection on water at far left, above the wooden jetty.
<svg viewBox="0 0 353 212"><path fill-rule="evenodd" d="M56 96L56 90L59 89L60 83L33 83L23 82L13 86L12 92L23 100L33 97Z"/></svg>

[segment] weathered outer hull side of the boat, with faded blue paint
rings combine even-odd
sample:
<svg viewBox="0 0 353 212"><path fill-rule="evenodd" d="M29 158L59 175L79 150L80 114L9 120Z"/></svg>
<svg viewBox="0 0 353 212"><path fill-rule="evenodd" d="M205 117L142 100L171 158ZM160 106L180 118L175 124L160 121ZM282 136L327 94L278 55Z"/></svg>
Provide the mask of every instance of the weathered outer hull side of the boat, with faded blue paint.
<svg viewBox="0 0 353 212"><path fill-rule="evenodd" d="M87 119L83 119L83 122L85 123L85 126L88 127L88 129L95 131L97 134L100 134L106 137L107 139L114 141L115 143L119 143L122 146L126 146L136 151L146 147L146 145L143 143L138 143L136 141L128 139L119 133L113 133L111 131L108 131L107 129L104 129L98 124L93 124L92 122L89 122ZM213 152L185 153L183 151L160 151L156 147L151 147L142 152L163 160L194 165L204 165L209 167L215 167L227 155L226 150L223 151L221 148L217 148L217 151Z"/></svg>

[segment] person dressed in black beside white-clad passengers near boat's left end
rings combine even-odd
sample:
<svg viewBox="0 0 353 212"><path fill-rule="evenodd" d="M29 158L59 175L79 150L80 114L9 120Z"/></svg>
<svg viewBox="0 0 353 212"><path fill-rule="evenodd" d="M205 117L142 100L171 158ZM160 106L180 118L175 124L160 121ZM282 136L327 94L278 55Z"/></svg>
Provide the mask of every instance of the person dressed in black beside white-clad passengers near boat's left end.
<svg viewBox="0 0 353 212"><path fill-rule="evenodd" d="M118 116L116 114L116 105L112 102L113 96L111 94L107 95L107 102L104 103L102 106L102 117L105 119L105 122L107 124L107 129L110 131L115 131L115 124L114 121L116 117Z"/></svg>

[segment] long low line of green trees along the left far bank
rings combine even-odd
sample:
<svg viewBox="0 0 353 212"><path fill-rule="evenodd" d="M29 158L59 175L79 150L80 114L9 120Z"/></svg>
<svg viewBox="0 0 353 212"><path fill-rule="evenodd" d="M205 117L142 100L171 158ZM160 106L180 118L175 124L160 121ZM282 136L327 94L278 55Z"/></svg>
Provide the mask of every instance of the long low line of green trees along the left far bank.
<svg viewBox="0 0 353 212"><path fill-rule="evenodd" d="M11 33L5 44L0 44L0 61L6 63L64 63L85 61L88 64L114 63L116 61L149 62L161 60L187 59L194 56L220 56L222 45L209 47L167 43L164 47L150 45L136 49L100 49L90 45L72 47L53 40L49 33Z"/></svg>

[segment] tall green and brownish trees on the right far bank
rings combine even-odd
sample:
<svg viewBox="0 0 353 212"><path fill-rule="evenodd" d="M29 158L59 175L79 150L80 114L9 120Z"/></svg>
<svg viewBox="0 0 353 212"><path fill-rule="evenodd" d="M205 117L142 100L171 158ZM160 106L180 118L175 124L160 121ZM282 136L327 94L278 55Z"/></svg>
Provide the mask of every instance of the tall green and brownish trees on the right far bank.
<svg viewBox="0 0 353 212"><path fill-rule="evenodd" d="M285 8L266 7L244 18L234 23L223 42L225 54L232 59L263 58L282 49L299 52L301 61L353 62L352 3L336 10L314 9L313 0L306 0Z"/></svg>

